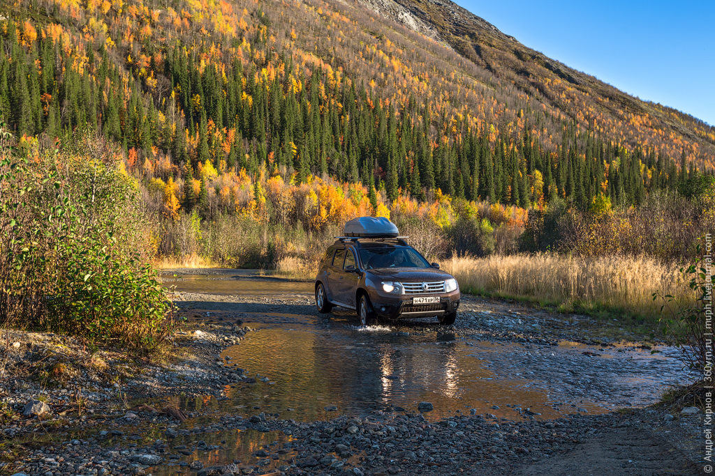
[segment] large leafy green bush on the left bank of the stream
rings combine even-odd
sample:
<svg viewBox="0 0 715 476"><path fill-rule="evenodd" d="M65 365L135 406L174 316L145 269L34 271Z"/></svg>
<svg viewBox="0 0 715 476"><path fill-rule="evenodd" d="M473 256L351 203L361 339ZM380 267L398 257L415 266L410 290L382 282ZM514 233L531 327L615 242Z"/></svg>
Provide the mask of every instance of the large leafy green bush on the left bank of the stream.
<svg viewBox="0 0 715 476"><path fill-rule="evenodd" d="M85 135L70 153L32 161L4 146L0 319L151 352L169 333L172 304L142 263L137 186L96 143Z"/></svg>

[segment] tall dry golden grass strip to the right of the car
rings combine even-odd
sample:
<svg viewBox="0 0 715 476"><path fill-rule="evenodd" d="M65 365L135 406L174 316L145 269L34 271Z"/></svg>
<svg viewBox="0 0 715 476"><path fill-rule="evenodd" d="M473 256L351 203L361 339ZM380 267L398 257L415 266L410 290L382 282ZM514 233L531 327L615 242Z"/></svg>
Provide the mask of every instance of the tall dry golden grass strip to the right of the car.
<svg viewBox="0 0 715 476"><path fill-rule="evenodd" d="M493 255L443 261L466 292L493 293L586 309L611 308L640 315L659 314L661 300L673 295L679 303L694 294L677 265L649 257L573 258L555 254Z"/></svg>

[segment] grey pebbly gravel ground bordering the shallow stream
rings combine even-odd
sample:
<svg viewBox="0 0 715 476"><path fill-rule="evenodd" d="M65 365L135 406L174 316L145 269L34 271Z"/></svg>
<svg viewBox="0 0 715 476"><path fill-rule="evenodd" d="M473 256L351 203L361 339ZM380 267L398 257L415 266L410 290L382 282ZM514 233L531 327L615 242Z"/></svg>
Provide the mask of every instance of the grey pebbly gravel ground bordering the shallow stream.
<svg viewBox="0 0 715 476"><path fill-rule="evenodd" d="M468 412L425 419L429 405L366 417L297 422L255 410L217 414L180 410L179 400L220 399L228 385L267 385L227 365L222 350L251 329L233 298L181 293L187 319L163 362L94 350L66 336L4 330L0 472L13 475L307 474L307 475L651 475L701 472L702 412L647 407L606 415L538 420L528 412L506 420ZM202 307L211 309L199 309ZM242 298L257 312L305 309L310 296ZM488 312L485 308L489 309ZM212 316L215 311L219 315ZM465 299L455 333L472 339L553 345L558 340L611 345L606 330L583 316L553 315L514 303ZM575 324L576 323L576 324ZM618 337L622 338L622 336ZM28 405L34 403L34 405ZM425 402L427 403L427 402ZM332 410L332 408L326 408ZM339 410L339 409L335 409ZM233 463L211 455L237 434L265 433L272 442ZM260 439L257 439L260 441ZM230 463L230 464L227 464Z"/></svg>

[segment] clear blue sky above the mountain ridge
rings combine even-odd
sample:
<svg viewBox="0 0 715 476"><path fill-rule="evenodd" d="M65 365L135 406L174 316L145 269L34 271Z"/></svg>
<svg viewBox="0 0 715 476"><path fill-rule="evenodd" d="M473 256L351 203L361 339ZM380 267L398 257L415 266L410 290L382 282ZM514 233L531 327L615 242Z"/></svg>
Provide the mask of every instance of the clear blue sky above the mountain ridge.
<svg viewBox="0 0 715 476"><path fill-rule="evenodd" d="M525 46L715 126L712 0L456 0Z"/></svg>

